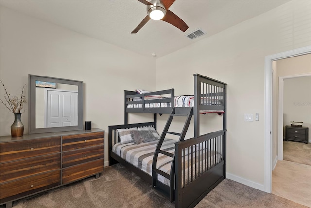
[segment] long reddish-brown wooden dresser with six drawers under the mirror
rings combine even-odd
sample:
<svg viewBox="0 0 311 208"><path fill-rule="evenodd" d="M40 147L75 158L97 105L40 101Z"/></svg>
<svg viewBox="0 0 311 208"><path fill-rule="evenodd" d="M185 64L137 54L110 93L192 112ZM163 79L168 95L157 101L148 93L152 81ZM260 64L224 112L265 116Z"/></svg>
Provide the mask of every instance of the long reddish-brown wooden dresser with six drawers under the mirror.
<svg viewBox="0 0 311 208"><path fill-rule="evenodd" d="M104 171L101 129L0 138L0 204Z"/></svg>

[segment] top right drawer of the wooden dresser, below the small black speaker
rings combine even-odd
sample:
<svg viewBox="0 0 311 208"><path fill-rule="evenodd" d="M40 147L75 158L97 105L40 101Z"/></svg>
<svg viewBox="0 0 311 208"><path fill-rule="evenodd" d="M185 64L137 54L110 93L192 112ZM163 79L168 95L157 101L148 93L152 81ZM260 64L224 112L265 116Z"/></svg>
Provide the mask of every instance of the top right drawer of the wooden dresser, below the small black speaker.
<svg viewBox="0 0 311 208"><path fill-rule="evenodd" d="M104 145L104 132L63 136L63 151Z"/></svg>

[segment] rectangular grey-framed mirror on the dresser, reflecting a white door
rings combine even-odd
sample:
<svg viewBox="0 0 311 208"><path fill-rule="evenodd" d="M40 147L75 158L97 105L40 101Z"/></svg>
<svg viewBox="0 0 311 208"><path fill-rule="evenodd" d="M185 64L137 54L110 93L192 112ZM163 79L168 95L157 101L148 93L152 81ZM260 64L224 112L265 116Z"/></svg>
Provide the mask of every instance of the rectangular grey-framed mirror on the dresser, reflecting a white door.
<svg viewBox="0 0 311 208"><path fill-rule="evenodd" d="M29 75L29 133L83 129L83 82Z"/></svg>

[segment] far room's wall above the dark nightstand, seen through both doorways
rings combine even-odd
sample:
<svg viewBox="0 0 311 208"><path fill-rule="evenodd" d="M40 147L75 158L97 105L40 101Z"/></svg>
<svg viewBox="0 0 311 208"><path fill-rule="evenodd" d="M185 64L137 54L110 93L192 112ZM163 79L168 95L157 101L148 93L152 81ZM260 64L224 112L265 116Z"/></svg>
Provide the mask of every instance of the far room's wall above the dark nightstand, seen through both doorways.
<svg viewBox="0 0 311 208"><path fill-rule="evenodd" d="M290 121L302 121L311 135L311 76L284 79L283 113L284 128Z"/></svg>

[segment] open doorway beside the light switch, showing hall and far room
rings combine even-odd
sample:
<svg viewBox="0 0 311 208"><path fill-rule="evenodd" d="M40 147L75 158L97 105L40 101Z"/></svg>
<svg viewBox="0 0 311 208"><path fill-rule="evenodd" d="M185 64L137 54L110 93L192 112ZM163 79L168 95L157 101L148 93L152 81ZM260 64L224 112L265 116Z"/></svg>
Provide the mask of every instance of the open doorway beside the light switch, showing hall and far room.
<svg viewBox="0 0 311 208"><path fill-rule="evenodd" d="M283 141L284 127L303 121L311 128L311 54L272 62L272 193L302 205L311 205L309 152L311 144ZM294 131L297 129L291 130ZM298 127L297 127L298 128ZM297 138L306 138L298 130ZM309 131L310 132L310 131ZM284 135L283 135L284 133ZM309 133L310 134L310 133ZM285 138L284 138L285 139ZM299 179L298 179L299 178ZM294 190L294 191L293 191Z"/></svg>

